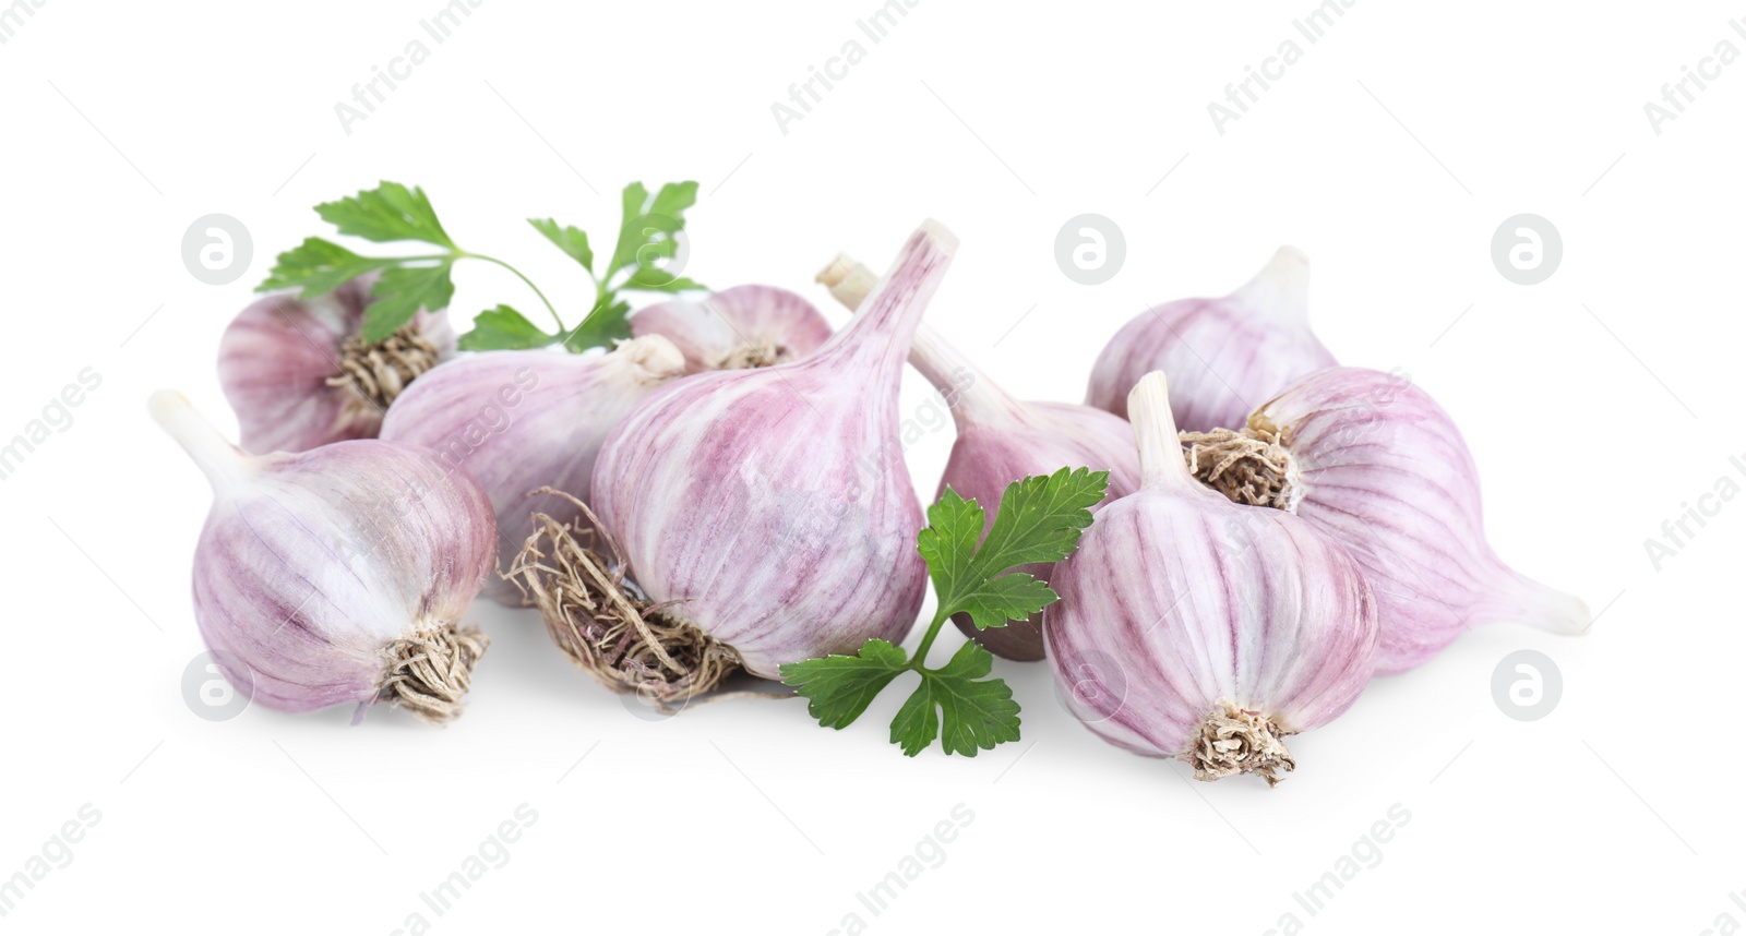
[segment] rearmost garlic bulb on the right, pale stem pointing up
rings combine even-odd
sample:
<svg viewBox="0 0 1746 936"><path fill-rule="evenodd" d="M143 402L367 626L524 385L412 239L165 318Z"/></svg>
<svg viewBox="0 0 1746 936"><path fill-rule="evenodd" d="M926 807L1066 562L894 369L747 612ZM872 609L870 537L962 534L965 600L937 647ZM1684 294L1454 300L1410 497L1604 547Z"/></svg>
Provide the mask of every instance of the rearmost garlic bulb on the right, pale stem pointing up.
<svg viewBox="0 0 1746 936"><path fill-rule="evenodd" d="M1091 368L1086 403L1128 416L1128 391L1151 370L1170 374L1170 409L1184 431L1238 426L1285 384L1334 367L1310 330L1310 258L1282 246L1224 299L1179 299L1116 332Z"/></svg>

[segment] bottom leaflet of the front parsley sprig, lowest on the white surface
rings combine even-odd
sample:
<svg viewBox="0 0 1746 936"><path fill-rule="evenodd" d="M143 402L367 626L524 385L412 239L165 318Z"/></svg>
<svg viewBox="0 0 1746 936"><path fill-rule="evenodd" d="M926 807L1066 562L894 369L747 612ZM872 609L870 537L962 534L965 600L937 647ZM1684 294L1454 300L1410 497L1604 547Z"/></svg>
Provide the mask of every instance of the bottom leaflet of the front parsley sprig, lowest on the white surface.
<svg viewBox="0 0 1746 936"><path fill-rule="evenodd" d="M946 665L924 669L922 685L890 723L890 742L913 758L938 737L948 754L974 758L976 751L1018 740L1018 702L1004 681L983 679L990 671L993 653L974 641L966 641Z"/></svg>

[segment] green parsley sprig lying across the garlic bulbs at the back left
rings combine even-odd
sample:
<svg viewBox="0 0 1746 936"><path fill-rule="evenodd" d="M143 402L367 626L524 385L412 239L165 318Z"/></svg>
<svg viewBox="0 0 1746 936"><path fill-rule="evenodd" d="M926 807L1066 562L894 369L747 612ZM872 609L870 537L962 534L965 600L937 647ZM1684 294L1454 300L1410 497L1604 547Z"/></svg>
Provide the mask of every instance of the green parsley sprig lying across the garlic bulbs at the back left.
<svg viewBox="0 0 1746 936"><path fill-rule="evenodd" d="M363 313L363 341L379 342L396 328L412 321L419 309L442 309L454 297L452 271L457 260L484 260L515 274L540 299L557 325L553 332L534 325L512 306L499 304L478 314L473 330L461 335L463 351L499 351L562 344L569 351L609 346L615 339L630 337L630 302L622 292L700 290L702 283L669 272L677 258L684 231L684 210L697 203L697 183L677 182L662 185L651 197L641 182L625 187L623 220L611 260L595 276L594 251L588 236L552 218L529 218L540 234L567 257L581 264L594 283L594 306L574 328L546 299L540 286L513 265L484 253L463 250L443 231L430 197L419 187L382 182L356 196L316 206L316 215L340 234L374 243L419 243L438 248L435 253L410 257L365 257L323 237L307 237L302 244L279 253L267 279L257 292L299 290L300 299L332 293L354 276L381 271L370 290L370 307Z"/></svg>

